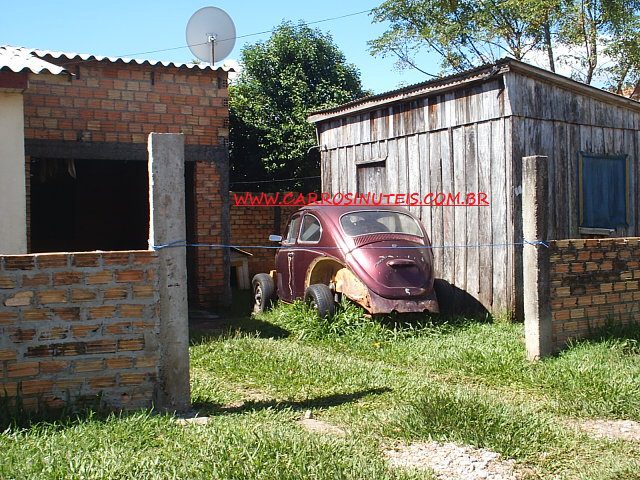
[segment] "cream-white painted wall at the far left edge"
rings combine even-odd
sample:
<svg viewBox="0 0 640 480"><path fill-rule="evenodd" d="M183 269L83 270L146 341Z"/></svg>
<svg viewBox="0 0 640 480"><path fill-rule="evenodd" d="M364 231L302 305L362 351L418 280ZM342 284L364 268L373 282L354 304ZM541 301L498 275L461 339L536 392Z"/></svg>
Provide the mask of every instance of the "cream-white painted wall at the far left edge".
<svg viewBox="0 0 640 480"><path fill-rule="evenodd" d="M0 91L0 254L27 253L22 93Z"/></svg>

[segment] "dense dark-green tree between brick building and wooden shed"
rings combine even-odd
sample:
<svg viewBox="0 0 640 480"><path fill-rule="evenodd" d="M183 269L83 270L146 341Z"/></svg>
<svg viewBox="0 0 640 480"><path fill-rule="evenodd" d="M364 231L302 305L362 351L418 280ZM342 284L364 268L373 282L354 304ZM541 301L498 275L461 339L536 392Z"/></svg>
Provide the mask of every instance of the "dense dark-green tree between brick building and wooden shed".
<svg viewBox="0 0 640 480"><path fill-rule="evenodd" d="M284 22L264 42L242 50L242 72L229 88L231 181L319 175L311 111L366 94L358 70L330 35ZM313 189L311 182L242 185L242 188Z"/></svg>

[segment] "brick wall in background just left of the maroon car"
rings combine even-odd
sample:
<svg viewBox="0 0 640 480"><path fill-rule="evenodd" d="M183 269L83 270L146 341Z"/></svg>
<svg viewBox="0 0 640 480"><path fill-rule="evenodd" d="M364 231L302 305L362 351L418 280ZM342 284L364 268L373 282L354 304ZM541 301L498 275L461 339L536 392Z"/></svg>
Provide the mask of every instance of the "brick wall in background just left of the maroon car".
<svg viewBox="0 0 640 480"><path fill-rule="evenodd" d="M279 226L274 229L276 208L280 209ZM241 207L231 205L232 245L275 245L269 242L269 235L282 235L289 216L299 207ZM247 249L249 276L273 270L275 251L273 249Z"/></svg>

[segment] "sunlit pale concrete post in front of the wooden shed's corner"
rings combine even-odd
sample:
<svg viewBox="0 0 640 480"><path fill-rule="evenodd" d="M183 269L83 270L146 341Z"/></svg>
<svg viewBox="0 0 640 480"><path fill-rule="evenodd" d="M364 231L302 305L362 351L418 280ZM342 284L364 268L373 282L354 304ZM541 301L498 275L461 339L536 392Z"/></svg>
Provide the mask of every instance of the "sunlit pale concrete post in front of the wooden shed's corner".
<svg viewBox="0 0 640 480"><path fill-rule="evenodd" d="M548 158L522 159L522 233L526 242L546 241L548 209ZM524 334L529 360L553 353L549 303L549 249L523 246Z"/></svg>

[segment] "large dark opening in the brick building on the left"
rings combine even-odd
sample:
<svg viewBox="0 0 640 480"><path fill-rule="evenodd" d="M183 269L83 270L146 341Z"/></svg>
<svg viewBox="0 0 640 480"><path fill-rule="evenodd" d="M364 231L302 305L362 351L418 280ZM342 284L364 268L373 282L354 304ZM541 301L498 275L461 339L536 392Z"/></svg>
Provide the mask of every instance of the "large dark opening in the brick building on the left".
<svg viewBox="0 0 640 480"><path fill-rule="evenodd" d="M33 252L147 249L147 162L31 162Z"/></svg>

